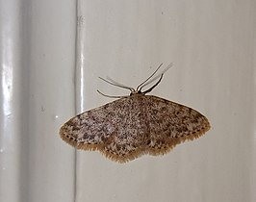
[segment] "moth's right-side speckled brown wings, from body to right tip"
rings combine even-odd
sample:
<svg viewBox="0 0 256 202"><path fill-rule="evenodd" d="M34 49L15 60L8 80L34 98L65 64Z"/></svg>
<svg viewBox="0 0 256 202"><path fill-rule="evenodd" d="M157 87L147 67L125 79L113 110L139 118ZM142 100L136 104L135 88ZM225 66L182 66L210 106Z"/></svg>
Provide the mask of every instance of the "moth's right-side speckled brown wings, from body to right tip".
<svg viewBox="0 0 256 202"><path fill-rule="evenodd" d="M210 129L208 119L192 108L152 95L147 97L149 154L166 154L176 144L197 139Z"/></svg>

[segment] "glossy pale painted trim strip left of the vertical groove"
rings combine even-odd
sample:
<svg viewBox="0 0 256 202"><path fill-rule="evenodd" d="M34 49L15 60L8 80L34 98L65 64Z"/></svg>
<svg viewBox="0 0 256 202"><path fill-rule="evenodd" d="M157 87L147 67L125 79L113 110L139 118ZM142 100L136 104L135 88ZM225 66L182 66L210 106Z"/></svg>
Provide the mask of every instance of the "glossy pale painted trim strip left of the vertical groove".
<svg viewBox="0 0 256 202"><path fill-rule="evenodd" d="M62 9L60 9L62 3ZM74 1L0 1L0 201L74 200Z"/></svg>

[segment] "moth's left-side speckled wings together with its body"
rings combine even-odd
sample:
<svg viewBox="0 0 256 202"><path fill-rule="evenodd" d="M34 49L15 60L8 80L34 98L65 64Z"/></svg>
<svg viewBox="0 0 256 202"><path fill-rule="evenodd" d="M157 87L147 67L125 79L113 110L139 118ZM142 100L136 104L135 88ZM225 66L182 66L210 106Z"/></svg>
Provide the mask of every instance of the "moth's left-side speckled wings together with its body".
<svg viewBox="0 0 256 202"><path fill-rule="evenodd" d="M146 126L137 121L140 102L128 96L78 114L64 123L60 136L78 149L99 150L119 163L133 160L144 148Z"/></svg>

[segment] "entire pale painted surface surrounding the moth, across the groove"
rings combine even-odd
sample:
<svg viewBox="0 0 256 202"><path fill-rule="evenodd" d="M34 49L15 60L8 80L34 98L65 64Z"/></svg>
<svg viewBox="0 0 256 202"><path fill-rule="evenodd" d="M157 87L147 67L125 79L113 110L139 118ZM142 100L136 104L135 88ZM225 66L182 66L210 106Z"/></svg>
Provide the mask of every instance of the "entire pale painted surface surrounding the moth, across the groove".
<svg viewBox="0 0 256 202"><path fill-rule="evenodd" d="M255 1L75 6L0 1L0 201L255 201ZM151 94L205 114L206 136L128 164L59 138L113 101L96 89L129 93L98 76L136 87L160 63L173 67Z"/></svg>

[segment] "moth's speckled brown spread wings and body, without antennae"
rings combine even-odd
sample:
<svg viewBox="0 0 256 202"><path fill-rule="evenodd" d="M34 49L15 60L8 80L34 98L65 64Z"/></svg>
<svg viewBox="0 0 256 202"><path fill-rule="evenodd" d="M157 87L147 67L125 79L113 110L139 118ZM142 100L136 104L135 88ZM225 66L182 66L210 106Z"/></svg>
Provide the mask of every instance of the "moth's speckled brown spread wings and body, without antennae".
<svg viewBox="0 0 256 202"><path fill-rule="evenodd" d="M77 149L98 150L125 163L144 154L166 154L209 129L207 118L192 108L135 93L71 118L60 136Z"/></svg>

